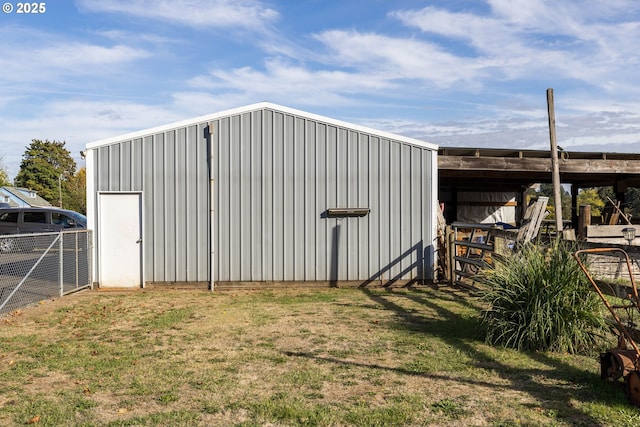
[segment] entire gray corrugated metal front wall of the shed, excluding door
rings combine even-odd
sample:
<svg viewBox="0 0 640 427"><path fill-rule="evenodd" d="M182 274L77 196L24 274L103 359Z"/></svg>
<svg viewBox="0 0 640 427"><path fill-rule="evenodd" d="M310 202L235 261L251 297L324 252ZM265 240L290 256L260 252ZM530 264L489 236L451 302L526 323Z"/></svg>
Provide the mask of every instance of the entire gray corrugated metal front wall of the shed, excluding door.
<svg viewBox="0 0 640 427"><path fill-rule="evenodd" d="M264 108L99 146L93 178L142 192L147 282L210 281L210 227L213 281L387 282L432 278L436 155Z"/></svg>

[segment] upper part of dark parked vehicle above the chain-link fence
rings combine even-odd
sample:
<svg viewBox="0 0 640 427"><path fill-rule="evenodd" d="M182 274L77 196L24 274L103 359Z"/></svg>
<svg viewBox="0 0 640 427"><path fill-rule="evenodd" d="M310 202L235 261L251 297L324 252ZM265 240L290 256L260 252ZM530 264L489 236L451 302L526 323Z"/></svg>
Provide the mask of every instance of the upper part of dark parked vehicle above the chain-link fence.
<svg viewBox="0 0 640 427"><path fill-rule="evenodd" d="M0 252L13 251L17 246L17 239L2 235L52 233L84 228L87 228L87 217L66 209L0 208Z"/></svg>

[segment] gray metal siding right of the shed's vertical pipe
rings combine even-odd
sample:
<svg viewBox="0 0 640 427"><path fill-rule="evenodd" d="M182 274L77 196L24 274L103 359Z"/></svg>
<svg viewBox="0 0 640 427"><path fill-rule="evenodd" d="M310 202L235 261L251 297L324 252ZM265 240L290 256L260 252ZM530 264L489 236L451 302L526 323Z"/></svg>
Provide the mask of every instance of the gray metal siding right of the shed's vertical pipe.
<svg viewBox="0 0 640 427"><path fill-rule="evenodd" d="M435 151L268 109L212 125L215 281L432 277Z"/></svg>

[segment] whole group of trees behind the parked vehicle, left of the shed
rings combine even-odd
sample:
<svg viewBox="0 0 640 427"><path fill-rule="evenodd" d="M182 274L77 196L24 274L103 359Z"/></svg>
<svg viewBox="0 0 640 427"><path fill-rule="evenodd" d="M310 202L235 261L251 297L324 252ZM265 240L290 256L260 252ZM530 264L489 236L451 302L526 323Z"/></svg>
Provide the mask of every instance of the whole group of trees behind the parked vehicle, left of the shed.
<svg viewBox="0 0 640 427"><path fill-rule="evenodd" d="M20 162L20 170L9 180L6 167L0 165L0 186L29 188L53 206L86 214L86 171L77 169L65 142L33 139Z"/></svg>

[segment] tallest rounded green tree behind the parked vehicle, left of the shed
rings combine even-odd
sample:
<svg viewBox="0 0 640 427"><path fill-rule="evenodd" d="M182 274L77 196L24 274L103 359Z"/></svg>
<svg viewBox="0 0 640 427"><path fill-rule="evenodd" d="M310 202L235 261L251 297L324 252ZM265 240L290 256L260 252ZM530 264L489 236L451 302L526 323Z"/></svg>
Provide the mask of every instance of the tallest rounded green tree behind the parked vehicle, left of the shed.
<svg viewBox="0 0 640 427"><path fill-rule="evenodd" d="M37 191L43 199L58 206L60 189L63 194L67 193L69 180L75 173L76 162L65 148L65 142L34 139L22 155L15 183Z"/></svg>

